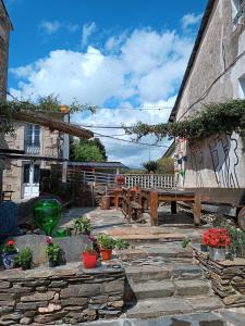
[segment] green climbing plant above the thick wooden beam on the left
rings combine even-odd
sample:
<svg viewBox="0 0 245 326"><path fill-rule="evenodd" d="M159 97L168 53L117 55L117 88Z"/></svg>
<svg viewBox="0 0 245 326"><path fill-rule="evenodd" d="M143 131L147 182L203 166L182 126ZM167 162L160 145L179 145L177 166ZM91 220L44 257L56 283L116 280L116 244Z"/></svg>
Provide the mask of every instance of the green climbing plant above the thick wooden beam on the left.
<svg viewBox="0 0 245 326"><path fill-rule="evenodd" d="M19 100L0 100L0 133L10 134L14 131L12 113L13 112L36 112L36 113L56 113L60 112L62 106L58 97L49 95L47 97L39 97L36 102L32 101L19 101ZM73 101L69 105L69 112L83 112L90 111L96 112L96 106L89 104L79 104Z"/></svg>

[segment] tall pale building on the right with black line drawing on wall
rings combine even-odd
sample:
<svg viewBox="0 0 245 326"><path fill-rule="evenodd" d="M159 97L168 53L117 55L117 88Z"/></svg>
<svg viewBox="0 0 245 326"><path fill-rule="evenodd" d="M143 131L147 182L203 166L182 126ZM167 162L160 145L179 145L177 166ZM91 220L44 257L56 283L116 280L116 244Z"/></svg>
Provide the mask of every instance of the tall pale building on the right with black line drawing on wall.
<svg viewBox="0 0 245 326"><path fill-rule="evenodd" d="M245 0L209 0L170 121L236 98L245 98ZM179 139L176 156L184 188L245 188L245 154L235 133L195 146Z"/></svg>

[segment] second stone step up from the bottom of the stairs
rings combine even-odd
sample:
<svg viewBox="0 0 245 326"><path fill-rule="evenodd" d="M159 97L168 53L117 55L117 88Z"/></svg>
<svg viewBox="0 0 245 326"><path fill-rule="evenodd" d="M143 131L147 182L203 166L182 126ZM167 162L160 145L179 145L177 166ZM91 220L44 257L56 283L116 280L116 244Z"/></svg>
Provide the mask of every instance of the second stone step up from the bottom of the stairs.
<svg viewBox="0 0 245 326"><path fill-rule="evenodd" d="M191 298L211 293L209 283L197 279L130 281L130 286L137 300L166 297Z"/></svg>

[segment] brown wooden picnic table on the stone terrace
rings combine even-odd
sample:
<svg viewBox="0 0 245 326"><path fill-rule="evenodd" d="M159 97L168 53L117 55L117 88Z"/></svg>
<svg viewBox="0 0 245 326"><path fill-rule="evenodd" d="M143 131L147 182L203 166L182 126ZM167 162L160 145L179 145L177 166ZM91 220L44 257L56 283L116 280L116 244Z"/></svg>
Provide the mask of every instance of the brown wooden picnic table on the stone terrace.
<svg viewBox="0 0 245 326"><path fill-rule="evenodd" d="M150 223L157 225L158 222L158 205L160 202L171 203L171 213L176 214L176 202L193 202L194 203L194 225L200 225L200 196L194 191L177 190L177 189L140 189L142 201L146 199L150 209Z"/></svg>

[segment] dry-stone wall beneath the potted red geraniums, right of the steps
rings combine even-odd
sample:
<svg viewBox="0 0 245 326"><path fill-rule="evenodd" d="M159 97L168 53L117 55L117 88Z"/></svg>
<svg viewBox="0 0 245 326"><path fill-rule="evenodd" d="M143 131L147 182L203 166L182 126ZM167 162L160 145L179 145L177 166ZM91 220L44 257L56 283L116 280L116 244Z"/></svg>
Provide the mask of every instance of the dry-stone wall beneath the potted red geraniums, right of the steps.
<svg viewBox="0 0 245 326"><path fill-rule="evenodd" d="M212 290L226 306L245 306L245 260L216 262L208 253L194 250Z"/></svg>

